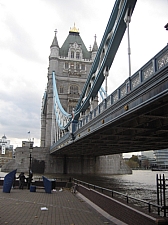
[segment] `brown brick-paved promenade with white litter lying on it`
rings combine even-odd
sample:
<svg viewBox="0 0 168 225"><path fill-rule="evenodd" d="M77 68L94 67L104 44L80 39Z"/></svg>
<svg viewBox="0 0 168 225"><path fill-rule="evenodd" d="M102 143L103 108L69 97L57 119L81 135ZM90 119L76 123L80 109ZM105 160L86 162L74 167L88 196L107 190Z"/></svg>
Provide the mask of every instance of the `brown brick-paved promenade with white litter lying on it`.
<svg viewBox="0 0 168 225"><path fill-rule="evenodd" d="M3 193L0 188L0 225L124 225L100 212L68 189L47 194L44 189Z"/></svg>

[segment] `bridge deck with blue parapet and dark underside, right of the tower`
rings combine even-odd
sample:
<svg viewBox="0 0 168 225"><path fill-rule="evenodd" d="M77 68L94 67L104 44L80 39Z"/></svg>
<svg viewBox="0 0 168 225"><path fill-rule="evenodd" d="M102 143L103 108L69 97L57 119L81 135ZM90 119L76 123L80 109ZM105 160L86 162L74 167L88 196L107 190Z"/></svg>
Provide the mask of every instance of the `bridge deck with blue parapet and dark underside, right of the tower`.
<svg viewBox="0 0 168 225"><path fill-rule="evenodd" d="M168 45L50 148L101 156L168 148ZM74 139L74 140L73 140Z"/></svg>

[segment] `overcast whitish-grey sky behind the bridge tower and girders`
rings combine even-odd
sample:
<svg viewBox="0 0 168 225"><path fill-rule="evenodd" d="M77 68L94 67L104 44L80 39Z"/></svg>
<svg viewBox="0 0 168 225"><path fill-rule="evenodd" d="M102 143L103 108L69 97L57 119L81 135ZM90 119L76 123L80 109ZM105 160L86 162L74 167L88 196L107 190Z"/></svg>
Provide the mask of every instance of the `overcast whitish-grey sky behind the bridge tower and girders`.
<svg viewBox="0 0 168 225"><path fill-rule="evenodd" d="M101 42L114 0L0 0L0 138L14 147L34 138L40 146L41 101L50 45L59 46L74 23L86 47ZM130 23L132 74L168 42L168 0L138 0ZM108 94L128 77L127 32L108 77ZM30 131L30 136L28 136Z"/></svg>

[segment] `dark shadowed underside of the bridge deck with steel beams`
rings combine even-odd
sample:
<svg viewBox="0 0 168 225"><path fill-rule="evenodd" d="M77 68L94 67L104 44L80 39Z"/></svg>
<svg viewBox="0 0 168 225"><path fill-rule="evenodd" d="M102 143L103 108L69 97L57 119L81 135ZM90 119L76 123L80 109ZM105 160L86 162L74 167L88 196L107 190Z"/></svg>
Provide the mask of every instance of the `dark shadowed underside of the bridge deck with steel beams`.
<svg viewBox="0 0 168 225"><path fill-rule="evenodd" d="M110 155L168 148L168 96L162 96L105 128L55 151L63 155Z"/></svg>

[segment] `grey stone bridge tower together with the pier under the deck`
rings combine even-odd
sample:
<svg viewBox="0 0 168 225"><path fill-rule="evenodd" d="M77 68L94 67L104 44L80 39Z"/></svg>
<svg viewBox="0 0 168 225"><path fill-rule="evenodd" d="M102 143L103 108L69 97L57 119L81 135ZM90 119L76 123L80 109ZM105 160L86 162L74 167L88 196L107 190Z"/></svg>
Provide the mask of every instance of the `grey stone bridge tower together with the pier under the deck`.
<svg viewBox="0 0 168 225"><path fill-rule="evenodd" d="M52 112L53 112L53 87L52 72L55 71L57 91L60 102L65 111L72 113L82 93L83 86L88 77L92 63L98 50L96 36L92 49L88 51L75 25L62 47L59 47L57 32L50 47L48 82L44 93L41 111L41 147L50 148L54 144L52 134ZM92 101L92 108L98 105L98 97ZM90 108L88 108L88 111ZM86 113L88 113L88 111ZM61 134L59 134L61 136ZM49 154L49 152L48 152ZM54 165L52 172L63 173L96 173L96 174L123 174L130 173L125 167L122 155L94 157L74 156L62 158L48 156L50 162L45 159L46 164ZM68 163L67 163L68 160ZM54 163L53 163L54 162ZM85 166L84 166L85 165ZM77 169L78 168L78 169Z"/></svg>

